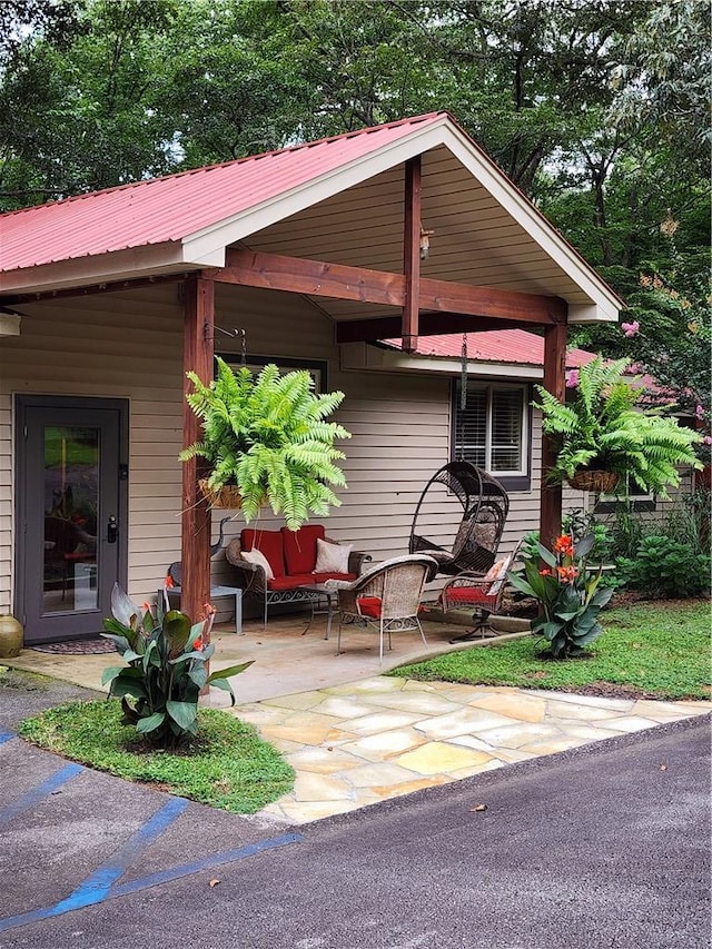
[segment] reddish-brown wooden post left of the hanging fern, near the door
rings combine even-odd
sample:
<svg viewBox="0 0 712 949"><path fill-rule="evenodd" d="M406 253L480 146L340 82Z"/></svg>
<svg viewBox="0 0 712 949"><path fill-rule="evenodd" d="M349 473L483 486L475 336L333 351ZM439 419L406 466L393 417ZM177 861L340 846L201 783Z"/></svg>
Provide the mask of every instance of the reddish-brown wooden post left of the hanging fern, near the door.
<svg viewBox="0 0 712 949"><path fill-rule="evenodd" d="M192 369L206 384L212 378L215 336L215 284L197 275L185 283L184 301L184 404L182 444L192 445L202 436L202 426L185 396L192 392L186 378ZM198 478L205 474L204 465L192 458L182 466L182 508L180 560L182 561L182 593L180 609L197 623L202 606L210 599L210 527L208 502L198 488Z"/></svg>

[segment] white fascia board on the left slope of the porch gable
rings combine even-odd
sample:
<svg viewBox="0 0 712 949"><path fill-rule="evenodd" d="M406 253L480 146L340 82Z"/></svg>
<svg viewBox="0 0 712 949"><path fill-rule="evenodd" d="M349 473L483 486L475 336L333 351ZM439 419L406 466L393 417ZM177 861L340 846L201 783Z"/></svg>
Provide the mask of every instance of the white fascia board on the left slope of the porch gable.
<svg viewBox="0 0 712 949"><path fill-rule="evenodd" d="M389 171L416 155L437 148L444 144L447 125L448 119L443 116L422 127L416 126L408 136L383 146L369 155L360 156L348 165L332 169L304 185L298 185L237 215L187 235L182 239L184 260L202 266L225 266L225 248L230 244L244 240L250 234L360 185L368 178ZM206 255L212 258L220 251L222 263L208 265Z"/></svg>

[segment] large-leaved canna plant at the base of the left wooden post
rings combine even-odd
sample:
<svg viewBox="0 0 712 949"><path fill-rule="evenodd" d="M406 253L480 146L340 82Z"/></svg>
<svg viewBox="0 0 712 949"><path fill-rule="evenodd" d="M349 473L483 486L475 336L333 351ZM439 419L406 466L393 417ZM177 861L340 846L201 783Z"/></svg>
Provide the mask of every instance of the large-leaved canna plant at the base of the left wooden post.
<svg viewBox="0 0 712 949"><path fill-rule="evenodd" d="M139 610L118 584L111 592L112 617L103 621L110 640L127 665L105 669L101 684L109 698L120 699L123 718L158 748L176 748L198 731L198 696L205 685L235 693L228 679L253 660L208 675L206 663L215 652L210 629L215 609L206 605L198 623L178 610L166 611L159 597L156 612ZM134 700L134 703L129 701Z"/></svg>

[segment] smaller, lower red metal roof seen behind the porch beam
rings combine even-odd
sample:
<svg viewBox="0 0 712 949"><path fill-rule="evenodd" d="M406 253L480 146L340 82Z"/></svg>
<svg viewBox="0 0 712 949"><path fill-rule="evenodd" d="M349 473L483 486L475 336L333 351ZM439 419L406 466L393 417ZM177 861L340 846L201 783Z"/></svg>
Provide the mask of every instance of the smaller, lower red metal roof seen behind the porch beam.
<svg viewBox="0 0 712 949"><path fill-rule="evenodd" d="M388 346L400 348L400 339L384 339ZM462 335L419 336L417 355L441 356L459 359L462 355ZM467 358L481 363L514 363L516 365L543 366L544 339L525 329L497 329L486 333L467 334ZM566 368L573 369L595 359L593 353L585 349L570 349L566 353Z"/></svg>

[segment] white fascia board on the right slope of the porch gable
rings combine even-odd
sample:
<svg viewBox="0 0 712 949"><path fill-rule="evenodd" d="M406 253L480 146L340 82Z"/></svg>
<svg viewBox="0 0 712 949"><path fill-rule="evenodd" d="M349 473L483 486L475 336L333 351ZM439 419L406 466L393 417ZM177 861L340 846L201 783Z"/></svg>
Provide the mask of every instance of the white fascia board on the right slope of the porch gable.
<svg viewBox="0 0 712 949"><path fill-rule="evenodd" d="M611 322L617 320L621 303L597 274L585 263L582 257L564 240L556 229L541 215L530 201L522 195L497 169L494 164L473 150L467 138L459 129L449 126L448 141L444 142L452 150L479 184L508 211L514 220L535 240L538 246L564 270L572 280L590 297L595 307L591 316L582 318L578 314L577 323ZM575 309L575 308L574 308Z"/></svg>

